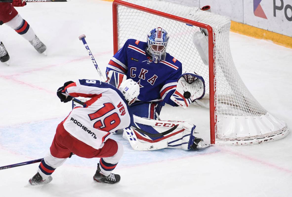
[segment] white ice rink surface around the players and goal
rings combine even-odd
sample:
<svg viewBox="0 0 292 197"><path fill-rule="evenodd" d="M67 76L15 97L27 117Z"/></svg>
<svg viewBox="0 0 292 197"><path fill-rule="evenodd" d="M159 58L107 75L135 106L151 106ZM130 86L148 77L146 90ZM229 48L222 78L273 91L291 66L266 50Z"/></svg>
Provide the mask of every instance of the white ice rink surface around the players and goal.
<svg viewBox="0 0 292 197"><path fill-rule="evenodd" d="M11 60L0 64L0 166L39 159L51 145L57 124L71 105L61 103L58 87L69 80L98 79L79 41L86 34L98 65L113 55L112 4L83 0L27 3L17 8L47 45L47 56L2 25L0 39ZM233 59L253 96L292 127L292 49L230 33ZM162 119L185 120L209 140L208 109L164 107ZM39 163L0 171L0 196L292 196L292 135L251 146L218 146L201 151L163 149L137 152L121 134L125 153L115 173L121 182L93 182L98 159L72 156L44 186L26 187Z"/></svg>

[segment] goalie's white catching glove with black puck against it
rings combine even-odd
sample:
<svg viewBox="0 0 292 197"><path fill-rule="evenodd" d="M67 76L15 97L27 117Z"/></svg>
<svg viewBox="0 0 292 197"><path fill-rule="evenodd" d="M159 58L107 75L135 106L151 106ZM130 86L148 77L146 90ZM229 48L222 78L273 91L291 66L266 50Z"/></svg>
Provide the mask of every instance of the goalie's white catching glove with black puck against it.
<svg viewBox="0 0 292 197"><path fill-rule="evenodd" d="M192 102L205 95L205 81L194 71L180 75L176 90L170 99L180 107L186 109Z"/></svg>

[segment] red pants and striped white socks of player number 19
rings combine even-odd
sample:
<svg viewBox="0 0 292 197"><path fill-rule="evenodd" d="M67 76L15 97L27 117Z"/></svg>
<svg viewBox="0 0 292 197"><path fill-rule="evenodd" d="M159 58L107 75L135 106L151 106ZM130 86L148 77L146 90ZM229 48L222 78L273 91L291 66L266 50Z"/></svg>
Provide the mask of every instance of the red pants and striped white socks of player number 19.
<svg viewBox="0 0 292 197"><path fill-rule="evenodd" d="M57 167L61 166L71 153L84 158L100 158L100 172L107 176L121 159L123 145L115 140L107 139L102 148L94 149L70 135L61 122L57 127L50 152L42 159L37 170L43 180L51 175Z"/></svg>

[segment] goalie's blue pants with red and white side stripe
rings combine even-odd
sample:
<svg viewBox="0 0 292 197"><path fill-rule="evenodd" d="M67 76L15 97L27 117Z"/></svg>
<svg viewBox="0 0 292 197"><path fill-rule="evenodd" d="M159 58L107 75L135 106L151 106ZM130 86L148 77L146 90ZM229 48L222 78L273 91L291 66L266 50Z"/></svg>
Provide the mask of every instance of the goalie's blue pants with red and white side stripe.
<svg viewBox="0 0 292 197"><path fill-rule="evenodd" d="M136 101L130 106L130 109L133 112L133 115L142 118L157 119L163 106L163 101L150 103Z"/></svg>

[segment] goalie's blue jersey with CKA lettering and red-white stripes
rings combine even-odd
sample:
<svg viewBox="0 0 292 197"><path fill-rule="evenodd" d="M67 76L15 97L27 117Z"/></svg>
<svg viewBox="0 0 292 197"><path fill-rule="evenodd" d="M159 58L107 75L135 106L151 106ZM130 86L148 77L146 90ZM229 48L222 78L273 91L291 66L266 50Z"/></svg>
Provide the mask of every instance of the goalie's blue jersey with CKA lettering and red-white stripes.
<svg viewBox="0 0 292 197"><path fill-rule="evenodd" d="M106 74L114 70L137 82L140 85L138 101L164 101L177 106L170 97L175 92L178 77L182 74L182 64L169 53L166 53L164 61L156 64L146 48L146 42L128 39L109 61Z"/></svg>

